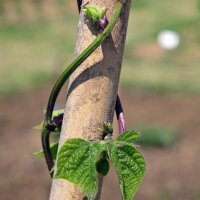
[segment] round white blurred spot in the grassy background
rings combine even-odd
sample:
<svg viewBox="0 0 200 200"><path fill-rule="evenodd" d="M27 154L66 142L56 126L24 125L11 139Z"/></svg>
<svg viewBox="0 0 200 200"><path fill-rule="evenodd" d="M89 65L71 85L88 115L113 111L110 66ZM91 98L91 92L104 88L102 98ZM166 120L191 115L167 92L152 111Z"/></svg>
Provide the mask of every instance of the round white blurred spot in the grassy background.
<svg viewBox="0 0 200 200"><path fill-rule="evenodd" d="M164 49L175 49L180 43L180 37L175 31L161 31L157 38L158 43Z"/></svg>

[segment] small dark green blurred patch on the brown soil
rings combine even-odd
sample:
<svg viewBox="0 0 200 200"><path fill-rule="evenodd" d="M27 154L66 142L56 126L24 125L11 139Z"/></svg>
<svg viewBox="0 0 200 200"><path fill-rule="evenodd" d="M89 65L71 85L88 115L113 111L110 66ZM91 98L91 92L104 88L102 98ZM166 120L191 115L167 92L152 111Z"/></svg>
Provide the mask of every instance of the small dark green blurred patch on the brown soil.
<svg viewBox="0 0 200 200"><path fill-rule="evenodd" d="M165 127L141 125L136 129L142 133L138 143L143 146L167 148L178 141L177 131Z"/></svg>

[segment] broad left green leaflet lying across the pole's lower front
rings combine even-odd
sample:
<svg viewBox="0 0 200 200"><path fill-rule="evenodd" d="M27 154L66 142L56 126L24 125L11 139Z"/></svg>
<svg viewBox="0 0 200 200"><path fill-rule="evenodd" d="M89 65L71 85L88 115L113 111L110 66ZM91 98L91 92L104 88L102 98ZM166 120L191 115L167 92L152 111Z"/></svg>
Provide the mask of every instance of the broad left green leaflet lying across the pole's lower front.
<svg viewBox="0 0 200 200"><path fill-rule="evenodd" d="M56 179L66 179L80 186L89 200L98 191L95 163L105 142L88 142L82 139L69 139L61 147L57 161Z"/></svg>

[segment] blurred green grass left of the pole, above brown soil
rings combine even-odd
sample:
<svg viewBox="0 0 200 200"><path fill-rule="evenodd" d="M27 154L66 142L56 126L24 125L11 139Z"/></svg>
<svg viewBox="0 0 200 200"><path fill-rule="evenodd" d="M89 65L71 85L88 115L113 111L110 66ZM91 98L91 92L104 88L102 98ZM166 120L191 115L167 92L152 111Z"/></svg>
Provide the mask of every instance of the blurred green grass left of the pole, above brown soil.
<svg viewBox="0 0 200 200"><path fill-rule="evenodd" d="M36 87L70 63L76 28L57 20L0 27L0 97Z"/></svg>

